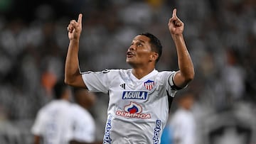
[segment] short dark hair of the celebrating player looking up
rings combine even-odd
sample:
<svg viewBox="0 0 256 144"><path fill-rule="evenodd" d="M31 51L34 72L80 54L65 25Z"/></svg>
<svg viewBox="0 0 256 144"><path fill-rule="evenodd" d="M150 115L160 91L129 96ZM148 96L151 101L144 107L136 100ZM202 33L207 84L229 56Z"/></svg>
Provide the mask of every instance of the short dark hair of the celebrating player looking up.
<svg viewBox="0 0 256 144"><path fill-rule="evenodd" d="M156 38L156 36L151 33L141 33L139 35L145 35L146 37L148 37L150 39L149 43L151 44L151 50L159 54L159 57L157 57L157 59L156 59L156 62L158 62L161 57L161 52L162 52L162 48L163 48L160 40L158 38Z"/></svg>

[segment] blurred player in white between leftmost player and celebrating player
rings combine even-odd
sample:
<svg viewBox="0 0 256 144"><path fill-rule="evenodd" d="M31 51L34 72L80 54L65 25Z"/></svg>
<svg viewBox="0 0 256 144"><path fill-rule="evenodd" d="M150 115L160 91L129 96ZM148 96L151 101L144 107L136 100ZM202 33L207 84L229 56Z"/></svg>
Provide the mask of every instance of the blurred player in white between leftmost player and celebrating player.
<svg viewBox="0 0 256 144"><path fill-rule="evenodd" d="M95 120L88 111L95 104L95 94L87 89L74 89L76 104L72 106L72 131L70 144L96 144ZM102 142L98 142L102 143Z"/></svg>

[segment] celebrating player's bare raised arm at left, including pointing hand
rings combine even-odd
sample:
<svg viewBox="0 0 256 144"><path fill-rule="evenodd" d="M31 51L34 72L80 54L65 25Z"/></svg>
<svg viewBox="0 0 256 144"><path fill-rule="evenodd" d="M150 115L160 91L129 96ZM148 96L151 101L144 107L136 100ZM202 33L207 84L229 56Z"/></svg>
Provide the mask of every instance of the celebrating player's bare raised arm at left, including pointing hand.
<svg viewBox="0 0 256 144"><path fill-rule="evenodd" d="M68 38L70 40L68 46L68 54L65 60L65 84L73 87L84 87L82 74L80 74L78 62L78 50L80 34L82 32L82 14L78 16L78 21L72 20L68 25Z"/></svg>

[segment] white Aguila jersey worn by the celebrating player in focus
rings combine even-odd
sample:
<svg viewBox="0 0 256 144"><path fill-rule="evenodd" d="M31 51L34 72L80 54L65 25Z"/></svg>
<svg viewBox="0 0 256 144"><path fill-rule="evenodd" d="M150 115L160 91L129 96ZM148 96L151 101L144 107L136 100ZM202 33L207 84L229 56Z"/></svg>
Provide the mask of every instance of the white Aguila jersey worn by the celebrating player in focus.
<svg viewBox="0 0 256 144"><path fill-rule="evenodd" d="M137 79L131 69L84 72L90 91L110 96L104 143L160 143L176 93L175 73L153 70Z"/></svg>

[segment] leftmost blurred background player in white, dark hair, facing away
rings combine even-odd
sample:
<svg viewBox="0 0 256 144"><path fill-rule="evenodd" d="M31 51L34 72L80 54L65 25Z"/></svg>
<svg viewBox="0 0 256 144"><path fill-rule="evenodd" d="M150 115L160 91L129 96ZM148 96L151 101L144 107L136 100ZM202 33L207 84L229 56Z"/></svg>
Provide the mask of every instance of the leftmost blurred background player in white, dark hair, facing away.
<svg viewBox="0 0 256 144"><path fill-rule="evenodd" d="M53 101L38 111L36 120L31 128L34 144L39 143L68 143L70 131L70 88L63 81L55 84Z"/></svg>

